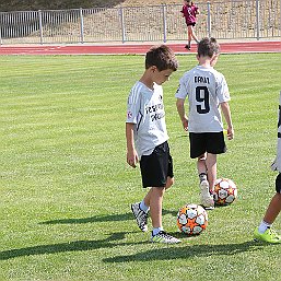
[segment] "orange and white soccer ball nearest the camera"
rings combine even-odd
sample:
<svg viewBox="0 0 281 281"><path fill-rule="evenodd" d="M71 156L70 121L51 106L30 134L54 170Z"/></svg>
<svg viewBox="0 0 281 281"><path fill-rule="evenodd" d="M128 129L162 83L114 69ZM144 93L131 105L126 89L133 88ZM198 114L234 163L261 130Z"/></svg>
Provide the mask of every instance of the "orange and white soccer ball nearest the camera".
<svg viewBox="0 0 281 281"><path fill-rule="evenodd" d="M199 204L185 204L177 213L177 226L187 235L198 235L208 225L207 211Z"/></svg>

